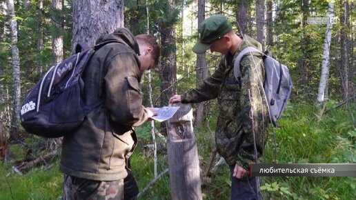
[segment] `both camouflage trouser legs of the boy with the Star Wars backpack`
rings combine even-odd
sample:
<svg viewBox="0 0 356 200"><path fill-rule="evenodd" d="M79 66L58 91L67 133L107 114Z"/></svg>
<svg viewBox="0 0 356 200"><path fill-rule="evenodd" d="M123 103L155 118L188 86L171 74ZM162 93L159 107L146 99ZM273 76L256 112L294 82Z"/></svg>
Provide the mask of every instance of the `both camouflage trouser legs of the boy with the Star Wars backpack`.
<svg viewBox="0 0 356 200"><path fill-rule="evenodd" d="M95 181L63 175L63 200L134 200L139 188L132 173L116 181Z"/></svg>

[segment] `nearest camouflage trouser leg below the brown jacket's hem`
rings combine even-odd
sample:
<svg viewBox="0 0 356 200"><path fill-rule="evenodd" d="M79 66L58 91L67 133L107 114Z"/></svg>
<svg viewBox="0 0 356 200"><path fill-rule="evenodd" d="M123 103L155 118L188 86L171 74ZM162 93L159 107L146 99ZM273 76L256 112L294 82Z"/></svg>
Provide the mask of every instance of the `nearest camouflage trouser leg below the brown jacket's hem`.
<svg viewBox="0 0 356 200"><path fill-rule="evenodd" d="M64 174L63 200L123 200L123 179L94 181Z"/></svg>

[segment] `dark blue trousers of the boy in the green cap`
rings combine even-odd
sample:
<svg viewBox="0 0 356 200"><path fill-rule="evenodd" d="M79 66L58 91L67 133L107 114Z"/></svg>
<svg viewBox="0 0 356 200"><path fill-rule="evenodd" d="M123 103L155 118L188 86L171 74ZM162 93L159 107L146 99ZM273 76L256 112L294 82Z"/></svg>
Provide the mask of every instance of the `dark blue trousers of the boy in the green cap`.
<svg viewBox="0 0 356 200"><path fill-rule="evenodd" d="M235 166L230 166L231 200L262 200L259 190L259 177L233 177Z"/></svg>

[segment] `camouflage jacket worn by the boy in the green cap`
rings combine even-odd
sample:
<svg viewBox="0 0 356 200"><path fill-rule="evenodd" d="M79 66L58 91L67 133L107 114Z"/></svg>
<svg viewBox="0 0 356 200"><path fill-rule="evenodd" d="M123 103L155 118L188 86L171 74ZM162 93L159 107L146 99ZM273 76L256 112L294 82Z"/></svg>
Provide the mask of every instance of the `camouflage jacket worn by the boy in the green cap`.
<svg viewBox="0 0 356 200"><path fill-rule="evenodd" d="M248 163L255 163L264 150L268 108L263 90L264 65L261 55L254 53L241 60L241 85L234 77L233 63L247 43L261 50L261 44L254 39L247 35L244 35L244 39L234 55L223 55L215 72L201 86L182 94L181 101L197 103L217 99L217 150L228 165L237 163L248 170Z"/></svg>

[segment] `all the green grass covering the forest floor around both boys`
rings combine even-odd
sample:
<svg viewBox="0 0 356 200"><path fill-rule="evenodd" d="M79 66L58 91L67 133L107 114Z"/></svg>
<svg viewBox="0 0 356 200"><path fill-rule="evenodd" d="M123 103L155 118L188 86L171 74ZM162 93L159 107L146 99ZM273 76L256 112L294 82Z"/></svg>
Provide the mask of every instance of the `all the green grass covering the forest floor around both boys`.
<svg viewBox="0 0 356 200"><path fill-rule="evenodd" d="M212 103L212 106L214 104ZM356 116L356 105L348 108L333 108L329 103L319 109L311 105L290 103L275 129L277 154L275 155L274 134L269 133L264 152L264 163L356 163L356 128L350 110ZM330 109L328 112L325 110ZM202 173L206 172L211 152L215 146L214 132L217 113L215 109L208 121L196 129L197 148ZM322 111L321 111L322 110ZM324 110L324 111L323 111ZM157 125L157 129L159 126ZM132 155L132 171L140 191L154 179L152 153L144 152L143 146L151 143L150 123L138 128L139 146ZM14 156L23 157L19 146L10 148ZM10 174L12 164L0 164L1 199L60 199L62 174L59 161L48 170L40 167L19 176ZM166 152L158 154L158 173L168 168ZM230 177L228 167L217 170L211 177L204 177L201 190L204 199L229 199ZM263 177L261 178L265 199L356 199L356 177ZM11 190L10 190L11 189ZM140 199L170 199L170 179L166 173Z"/></svg>

